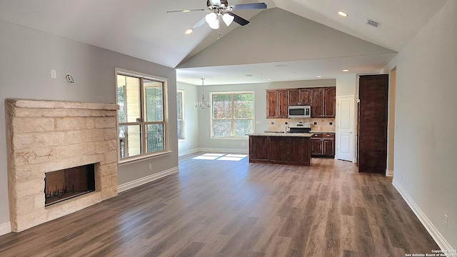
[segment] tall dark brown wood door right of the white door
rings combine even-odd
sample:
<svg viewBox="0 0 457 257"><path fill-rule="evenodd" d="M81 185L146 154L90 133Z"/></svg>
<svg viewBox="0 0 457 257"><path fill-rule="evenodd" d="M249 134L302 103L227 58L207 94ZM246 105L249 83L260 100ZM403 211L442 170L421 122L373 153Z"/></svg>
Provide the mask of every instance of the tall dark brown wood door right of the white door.
<svg viewBox="0 0 457 257"><path fill-rule="evenodd" d="M386 173L388 75L359 79L358 172Z"/></svg>

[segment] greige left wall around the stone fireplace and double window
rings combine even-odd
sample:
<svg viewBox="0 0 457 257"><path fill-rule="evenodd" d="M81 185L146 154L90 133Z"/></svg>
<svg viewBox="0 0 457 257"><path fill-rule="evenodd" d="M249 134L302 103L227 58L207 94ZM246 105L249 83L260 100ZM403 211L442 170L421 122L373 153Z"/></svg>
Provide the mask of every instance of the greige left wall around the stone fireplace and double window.
<svg viewBox="0 0 457 257"><path fill-rule="evenodd" d="M169 79L171 153L119 166L119 184L178 166L176 71L114 51L0 21L0 233L9 228L4 99L116 103L116 68ZM51 69L57 78L51 79ZM65 80L66 72L75 79ZM149 163L154 163L149 170Z"/></svg>

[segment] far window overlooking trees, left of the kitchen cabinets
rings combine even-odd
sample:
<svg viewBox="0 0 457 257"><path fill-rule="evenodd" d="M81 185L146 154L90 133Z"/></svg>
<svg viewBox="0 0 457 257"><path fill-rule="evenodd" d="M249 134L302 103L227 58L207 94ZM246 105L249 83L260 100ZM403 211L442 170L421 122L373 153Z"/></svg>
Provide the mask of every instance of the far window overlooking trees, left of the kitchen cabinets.
<svg viewBox="0 0 457 257"><path fill-rule="evenodd" d="M211 93L211 136L245 137L253 132L253 92Z"/></svg>

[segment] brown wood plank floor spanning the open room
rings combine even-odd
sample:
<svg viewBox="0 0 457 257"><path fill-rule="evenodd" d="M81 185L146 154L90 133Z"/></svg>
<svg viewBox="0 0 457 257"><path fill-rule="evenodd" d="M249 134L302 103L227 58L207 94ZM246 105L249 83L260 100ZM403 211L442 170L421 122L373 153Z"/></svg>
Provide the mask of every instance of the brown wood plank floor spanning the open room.
<svg viewBox="0 0 457 257"><path fill-rule="evenodd" d="M201 154L201 153L199 153ZM438 246L391 178L180 158L180 172L21 233L0 256L405 256Z"/></svg>

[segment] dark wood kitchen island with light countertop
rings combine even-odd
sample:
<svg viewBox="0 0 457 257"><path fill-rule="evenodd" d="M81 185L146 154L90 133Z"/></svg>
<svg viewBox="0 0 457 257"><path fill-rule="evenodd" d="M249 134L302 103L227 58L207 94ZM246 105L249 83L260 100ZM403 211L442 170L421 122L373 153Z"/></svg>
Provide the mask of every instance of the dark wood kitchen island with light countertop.
<svg viewBox="0 0 457 257"><path fill-rule="evenodd" d="M313 133L250 133L249 162L311 165Z"/></svg>

